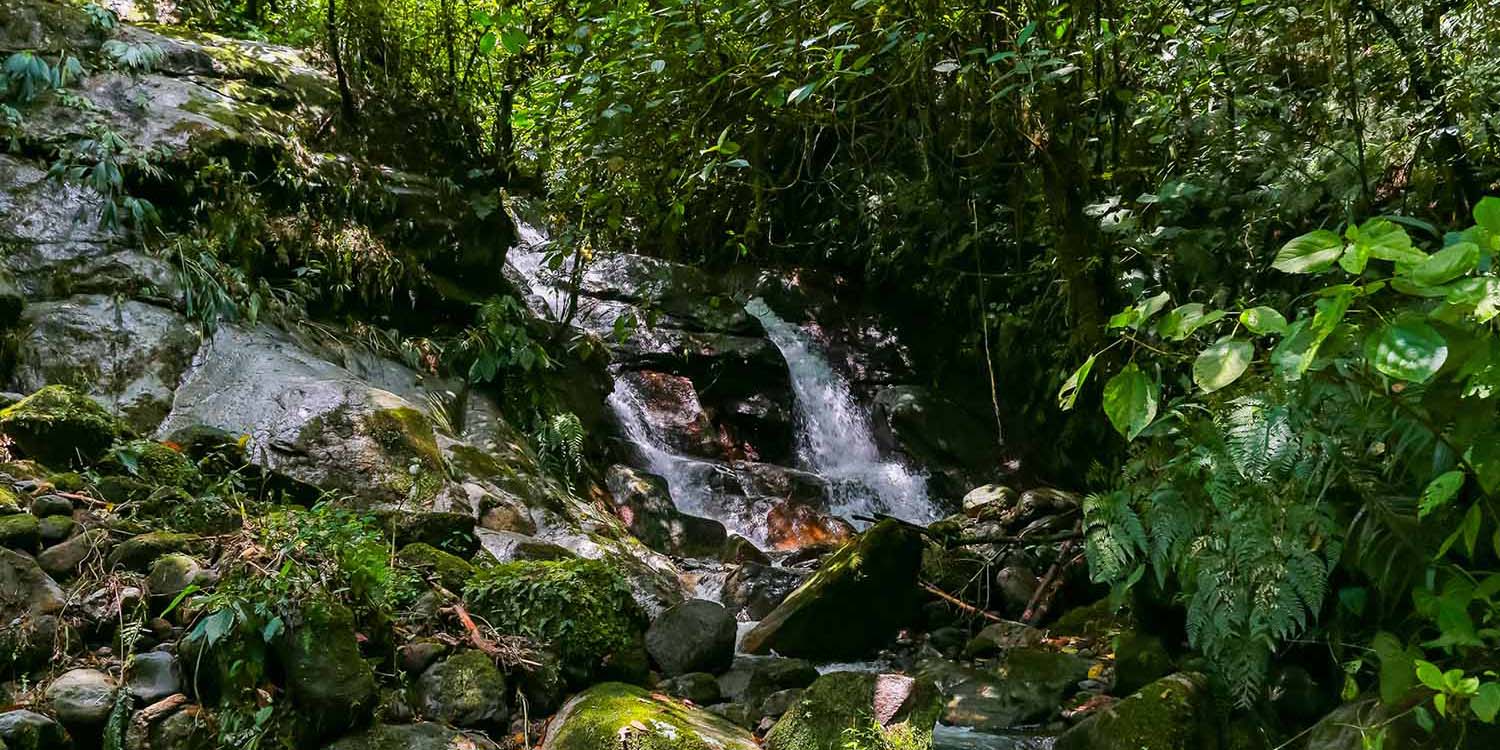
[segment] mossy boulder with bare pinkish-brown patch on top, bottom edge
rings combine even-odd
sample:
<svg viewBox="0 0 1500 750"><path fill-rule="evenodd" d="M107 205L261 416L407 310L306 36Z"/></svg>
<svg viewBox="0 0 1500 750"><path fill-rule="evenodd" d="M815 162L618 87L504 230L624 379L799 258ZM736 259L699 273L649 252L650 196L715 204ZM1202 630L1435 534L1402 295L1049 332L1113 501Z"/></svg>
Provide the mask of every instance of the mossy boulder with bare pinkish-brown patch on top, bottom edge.
<svg viewBox="0 0 1500 750"><path fill-rule="evenodd" d="M840 750L846 734L878 732L932 742L942 702L926 680L873 672L830 672L802 692L765 735L766 750ZM904 746L906 741L891 744Z"/></svg>

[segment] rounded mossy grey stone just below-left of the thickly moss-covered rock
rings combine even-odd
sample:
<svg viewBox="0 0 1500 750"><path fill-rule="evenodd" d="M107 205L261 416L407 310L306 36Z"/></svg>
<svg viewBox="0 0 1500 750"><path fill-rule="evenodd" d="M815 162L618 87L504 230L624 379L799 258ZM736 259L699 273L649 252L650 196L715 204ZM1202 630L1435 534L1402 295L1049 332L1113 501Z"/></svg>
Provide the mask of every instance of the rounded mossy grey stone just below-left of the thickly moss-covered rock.
<svg viewBox="0 0 1500 750"><path fill-rule="evenodd" d="M417 680L414 706L424 718L460 728L506 726L506 678L483 651L459 651Z"/></svg>

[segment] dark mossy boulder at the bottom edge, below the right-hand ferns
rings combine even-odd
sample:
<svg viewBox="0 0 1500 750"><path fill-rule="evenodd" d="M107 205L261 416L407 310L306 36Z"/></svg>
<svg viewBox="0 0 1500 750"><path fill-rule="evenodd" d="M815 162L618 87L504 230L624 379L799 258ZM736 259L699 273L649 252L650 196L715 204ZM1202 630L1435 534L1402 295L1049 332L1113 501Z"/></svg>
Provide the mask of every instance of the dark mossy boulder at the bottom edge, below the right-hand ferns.
<svg viewBox="0 0 1500 750"><path fill-rule="evenodd" d="M1056 750L1218 750L1208 680L1167 675L1058 738Z"/></svg>

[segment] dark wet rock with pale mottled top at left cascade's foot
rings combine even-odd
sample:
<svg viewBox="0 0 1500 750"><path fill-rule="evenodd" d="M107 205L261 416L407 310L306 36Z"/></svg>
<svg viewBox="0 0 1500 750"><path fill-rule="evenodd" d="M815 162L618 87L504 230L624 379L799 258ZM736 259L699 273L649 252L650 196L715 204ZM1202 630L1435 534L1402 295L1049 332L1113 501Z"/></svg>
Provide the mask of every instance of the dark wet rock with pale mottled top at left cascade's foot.
<svg viewBox="0 0 1500 750"><path fill-rule="evenodd" d="M658 552L711 558L724 546L724 525L676 510L666 480L615 464L604 474L615 514L630 534Z"/></svg>

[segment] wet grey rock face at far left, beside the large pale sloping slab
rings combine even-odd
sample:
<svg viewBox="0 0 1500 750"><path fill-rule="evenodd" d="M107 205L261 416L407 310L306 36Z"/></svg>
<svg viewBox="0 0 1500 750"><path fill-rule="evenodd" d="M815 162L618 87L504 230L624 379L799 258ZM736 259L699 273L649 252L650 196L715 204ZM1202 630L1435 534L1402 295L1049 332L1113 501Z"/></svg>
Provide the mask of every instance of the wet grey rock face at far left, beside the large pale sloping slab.
<svg viewBox="0 0 1500 750"><path fill-rule="evenodd" d="M200 344L177 312L102 294L32 304L22 324L9 387L72 386L138 432L166 417Z"/></svg>

